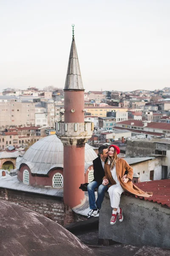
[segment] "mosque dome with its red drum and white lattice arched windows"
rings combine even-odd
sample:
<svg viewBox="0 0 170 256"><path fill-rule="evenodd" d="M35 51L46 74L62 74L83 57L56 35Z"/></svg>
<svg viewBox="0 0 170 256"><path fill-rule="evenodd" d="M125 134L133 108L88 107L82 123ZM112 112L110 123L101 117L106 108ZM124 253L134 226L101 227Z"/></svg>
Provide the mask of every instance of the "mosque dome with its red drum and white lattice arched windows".
<svg viewBox="0 0 170 256"><path fill-rule="evenodd" d="M85 144L85 182L93 179L93 160L97 157L93 148ZM23 157L17 157L18 179L23 183L42 186L63 186L63 144L57 135L37 141ZM90 174L89 174L90 172ZM57 175L57 176L56 176ZM90 175L90 176L89 176ZM91 180L89 180L91 177ZM62 184L60 181L62 180Z"/></svg>

